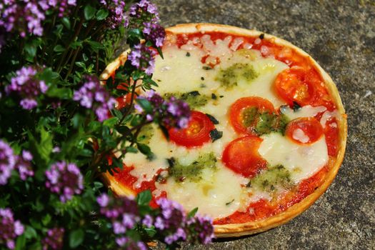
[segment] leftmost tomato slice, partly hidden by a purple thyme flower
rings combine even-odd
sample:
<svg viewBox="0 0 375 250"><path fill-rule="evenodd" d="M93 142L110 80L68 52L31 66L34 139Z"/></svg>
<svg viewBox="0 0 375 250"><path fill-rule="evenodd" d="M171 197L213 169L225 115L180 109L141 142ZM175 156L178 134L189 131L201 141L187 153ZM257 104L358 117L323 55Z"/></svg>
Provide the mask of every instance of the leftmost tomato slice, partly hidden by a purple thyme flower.
<svg viewBox="0 0 375 250"><path fill-rule="evenodd" d="M201 146L210 140L209 132L215 129L214 124L206 114L191 111L191 119L186 129L169 129L169 138L177 145Z"/></svg>

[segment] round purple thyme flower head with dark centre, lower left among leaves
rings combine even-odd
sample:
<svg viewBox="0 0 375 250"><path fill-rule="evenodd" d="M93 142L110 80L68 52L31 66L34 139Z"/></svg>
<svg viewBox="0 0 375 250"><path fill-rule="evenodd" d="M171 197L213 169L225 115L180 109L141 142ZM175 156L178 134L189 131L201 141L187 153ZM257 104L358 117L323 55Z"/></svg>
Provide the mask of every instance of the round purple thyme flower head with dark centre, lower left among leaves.
<svg viewBox="0 0 375 250"><path fill-rule="evenodd" d="M60 194L60 201L70 200L74 194L81 194L84 189L83 177L76 164L59 161L46 171L46 187L53 193Z"/></svg>

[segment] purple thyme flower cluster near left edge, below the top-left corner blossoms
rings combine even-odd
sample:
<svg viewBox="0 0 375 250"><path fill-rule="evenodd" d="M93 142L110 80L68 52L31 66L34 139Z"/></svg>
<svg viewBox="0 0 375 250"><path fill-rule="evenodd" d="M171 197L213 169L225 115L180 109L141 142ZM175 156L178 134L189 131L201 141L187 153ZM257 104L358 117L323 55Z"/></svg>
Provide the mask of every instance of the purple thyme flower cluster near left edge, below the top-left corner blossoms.
<svg viewBox="0 0 375 250"><path fill-rule="evenodd" d="M7 94L17 92L21 96L20 105L24 109L34 109L38 103L36 97L41 93L46 93L48 86L44 81L36 79L38 71L32 66L24 66L16 71L16 76L11 79L11 84L6 86Z"/></svg>

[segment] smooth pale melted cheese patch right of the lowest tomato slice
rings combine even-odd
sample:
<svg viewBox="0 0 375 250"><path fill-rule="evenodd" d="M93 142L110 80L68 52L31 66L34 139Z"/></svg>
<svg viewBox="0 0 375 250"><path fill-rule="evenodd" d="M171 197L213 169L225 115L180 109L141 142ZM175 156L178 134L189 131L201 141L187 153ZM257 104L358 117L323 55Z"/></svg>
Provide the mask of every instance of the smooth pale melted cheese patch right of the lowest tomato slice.
<svg viewBox="0 0 375 250"><path fill-rule="evenodd" d="M309 145L296 144L281 134L268 134L259 147L259 154L272 166L281 164L291 172L295 183L313 176L328 162L326 139Z"/></svg>

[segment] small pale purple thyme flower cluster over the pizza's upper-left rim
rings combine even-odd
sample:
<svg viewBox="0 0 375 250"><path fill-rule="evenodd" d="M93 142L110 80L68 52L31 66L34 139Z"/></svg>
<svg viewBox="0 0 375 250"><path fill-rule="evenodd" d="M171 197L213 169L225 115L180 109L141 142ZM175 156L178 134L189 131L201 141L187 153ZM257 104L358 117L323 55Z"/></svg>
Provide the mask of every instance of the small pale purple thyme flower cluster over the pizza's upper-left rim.
<svg viewBox="0 0 375 250"><path fill-rule="evenodd" d="M144 44L136 44L131 50L128 59L131 65L151 75L154 73L156 52Z"/></svg>

